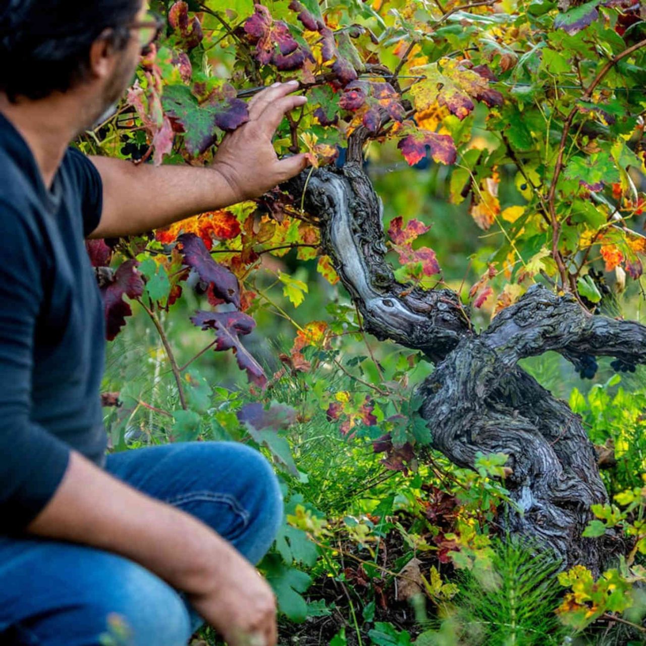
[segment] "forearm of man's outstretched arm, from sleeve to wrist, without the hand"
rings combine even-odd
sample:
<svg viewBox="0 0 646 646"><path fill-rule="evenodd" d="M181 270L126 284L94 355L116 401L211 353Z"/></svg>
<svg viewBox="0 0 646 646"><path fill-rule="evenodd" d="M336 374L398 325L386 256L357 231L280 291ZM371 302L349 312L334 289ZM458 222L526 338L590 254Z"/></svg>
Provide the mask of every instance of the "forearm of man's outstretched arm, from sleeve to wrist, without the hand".
<svg viewBox="0 0 646 646"><path fill-rule="evenodd" d="M216 168L134 165L92 157L103 181L103 213L92 238L158 229L182 218L240 201Z"/></svg>

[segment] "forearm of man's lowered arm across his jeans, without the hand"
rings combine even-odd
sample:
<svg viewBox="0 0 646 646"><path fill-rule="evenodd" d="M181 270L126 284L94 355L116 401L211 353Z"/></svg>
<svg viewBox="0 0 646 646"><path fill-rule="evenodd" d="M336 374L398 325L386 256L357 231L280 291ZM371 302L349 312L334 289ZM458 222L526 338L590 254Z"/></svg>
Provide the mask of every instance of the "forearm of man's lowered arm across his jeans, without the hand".
<svg viewBox="0 0 646 646"><path fill-rule="evenodd" d="M240 556L198 519L141 494L72 453L61 485L28 526L38 536L125 556L189 594L204 594Z"/></svg>

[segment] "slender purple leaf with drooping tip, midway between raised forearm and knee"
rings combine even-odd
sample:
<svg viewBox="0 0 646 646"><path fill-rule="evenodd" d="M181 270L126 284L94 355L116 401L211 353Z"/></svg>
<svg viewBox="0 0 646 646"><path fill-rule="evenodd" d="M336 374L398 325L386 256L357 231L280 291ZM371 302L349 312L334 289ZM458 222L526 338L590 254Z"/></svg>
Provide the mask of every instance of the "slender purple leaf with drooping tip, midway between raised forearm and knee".
<svg viewBox="0 0 646 646"><path fill-rule="evenodd" d="M216 351L233 349L240 370L247 371L250 382L264 388L267 377L260 364L249 354L240 342L239 336L249 334L256 326L255 320L242 312L205 312L198 311L191 321L202 329L213 329L215 332Z"/></svg>

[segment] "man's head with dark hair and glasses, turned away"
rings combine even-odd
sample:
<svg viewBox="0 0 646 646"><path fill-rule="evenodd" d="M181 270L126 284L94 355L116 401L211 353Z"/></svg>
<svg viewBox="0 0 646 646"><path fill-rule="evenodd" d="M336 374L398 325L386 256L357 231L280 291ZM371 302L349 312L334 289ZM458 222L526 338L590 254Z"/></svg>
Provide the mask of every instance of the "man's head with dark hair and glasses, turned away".
<svg viewBox="0 0 646 646"><path fill-rule="evenodd" d="M149 24L143 0L0 0L0 92L15 103L81 89L94 120L132 79Z"/></svg>

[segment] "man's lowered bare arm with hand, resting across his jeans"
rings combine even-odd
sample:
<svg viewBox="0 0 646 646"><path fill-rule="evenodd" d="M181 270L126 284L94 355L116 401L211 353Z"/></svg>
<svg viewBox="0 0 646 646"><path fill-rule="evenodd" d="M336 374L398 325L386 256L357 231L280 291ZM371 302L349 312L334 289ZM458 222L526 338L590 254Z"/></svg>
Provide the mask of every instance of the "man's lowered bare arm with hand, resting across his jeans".
<svg viewBox="0 0 646 646"><path fill-rule="evenodd" d="M121 554L184 590L232 646L276 643L275 599L255 568L207 525L141 494L79 453L28 531ZM246 641L245 641L246 640Z"/></svg>

